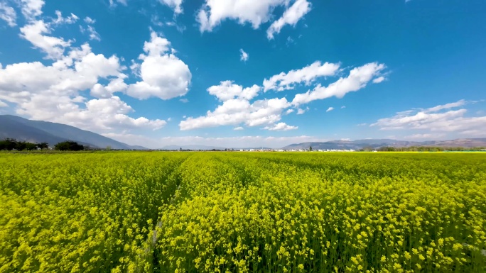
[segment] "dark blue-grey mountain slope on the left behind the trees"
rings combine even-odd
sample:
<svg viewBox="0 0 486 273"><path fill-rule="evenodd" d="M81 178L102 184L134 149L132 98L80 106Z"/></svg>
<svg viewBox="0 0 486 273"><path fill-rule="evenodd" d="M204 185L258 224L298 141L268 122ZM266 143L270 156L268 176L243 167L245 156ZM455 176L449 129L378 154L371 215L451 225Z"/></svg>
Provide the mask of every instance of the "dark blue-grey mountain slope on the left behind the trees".
<svg viewBox="0 0 486 273"><path fill-rule="evenodd" d="M112 149L146 150L146 147L132 146L97 133L60 123L31 121L11 115L0 115L0 139L14 138L31 143L49 143L50 146L65 140L72 140L90 147L112 147Z"/></svg>

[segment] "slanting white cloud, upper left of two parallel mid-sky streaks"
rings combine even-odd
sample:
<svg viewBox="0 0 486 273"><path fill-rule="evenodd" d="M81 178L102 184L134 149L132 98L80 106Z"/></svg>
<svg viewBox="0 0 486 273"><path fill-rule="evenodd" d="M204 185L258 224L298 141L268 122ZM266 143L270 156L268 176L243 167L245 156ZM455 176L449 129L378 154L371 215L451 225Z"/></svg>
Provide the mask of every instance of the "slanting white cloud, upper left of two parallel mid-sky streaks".
<svg viewBox="0 0 486 273"><path fill-rule="evenodd" d="M293 89L295 84L301 83L309 85L318 77L334 76L339 67L339 64L316 61L302 69L291 70L287 73L281 72L270 77L270 79L264 79L264 91L284 91Z"/></svg>

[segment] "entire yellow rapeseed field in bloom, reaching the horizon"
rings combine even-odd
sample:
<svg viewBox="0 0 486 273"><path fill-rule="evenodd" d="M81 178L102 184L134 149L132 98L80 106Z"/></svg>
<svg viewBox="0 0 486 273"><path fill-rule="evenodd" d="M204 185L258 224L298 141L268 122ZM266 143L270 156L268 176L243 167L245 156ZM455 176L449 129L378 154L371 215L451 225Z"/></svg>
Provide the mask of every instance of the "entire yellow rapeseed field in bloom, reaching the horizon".
<svg viewBox="0 0 486 273"><path fill-rule="evenodd" d="M486 272L486 154L0 153L0 272Z"/></svg>

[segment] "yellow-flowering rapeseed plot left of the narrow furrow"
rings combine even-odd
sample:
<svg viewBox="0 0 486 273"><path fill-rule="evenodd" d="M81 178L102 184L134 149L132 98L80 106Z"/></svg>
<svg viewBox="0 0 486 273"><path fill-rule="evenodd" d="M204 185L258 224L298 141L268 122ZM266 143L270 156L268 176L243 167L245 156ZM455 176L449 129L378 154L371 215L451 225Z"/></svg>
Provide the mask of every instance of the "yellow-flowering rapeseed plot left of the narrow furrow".
<svg viewBox="0 0 486 273"><path fill-rule="evenodd" d="M0 154L0 272L146 272L185 155Z"/></svg>

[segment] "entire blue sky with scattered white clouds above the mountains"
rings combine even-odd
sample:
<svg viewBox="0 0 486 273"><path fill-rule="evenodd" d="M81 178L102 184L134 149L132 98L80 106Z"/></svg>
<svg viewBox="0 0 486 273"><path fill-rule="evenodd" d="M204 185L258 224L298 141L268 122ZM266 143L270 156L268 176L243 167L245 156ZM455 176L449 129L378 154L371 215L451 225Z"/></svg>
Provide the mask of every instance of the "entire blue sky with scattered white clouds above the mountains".
<svg viewBox="0 0 486 273"><path fill-rule="evenodd" d="M132 145L486 137L484 1L0 0L0 113Z"/></svg>

